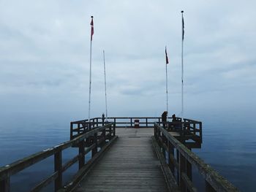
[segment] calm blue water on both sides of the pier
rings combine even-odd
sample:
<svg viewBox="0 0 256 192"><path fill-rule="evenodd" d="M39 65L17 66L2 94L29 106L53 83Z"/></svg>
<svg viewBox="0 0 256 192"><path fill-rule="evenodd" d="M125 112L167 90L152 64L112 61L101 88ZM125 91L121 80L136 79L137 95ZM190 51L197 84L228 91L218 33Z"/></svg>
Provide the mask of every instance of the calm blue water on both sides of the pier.
<svg viewBox="0 0 256 192"><path fill-rule="evenodd" d="M68 140L70 120L72 119L68 117L53 118L51 115L31 115L15 120L1 119L0 166ZM255 137L256 126L253 121L217 122L206 118L203 122L203 147L193 151L241 191L255 191ZM68 161L77 153L76 149L65 150L63 161ZM11 183L15 184L12 191L27 191L39 180L50 175L53 172L52 162L53 158L45 159L40 164L11 177ZM64 174L64 182L72 177L77 168L78 165L75 164ZM31 182L20 188L21 184L28 180ZM51 190L52 186L49 186L45 191Z"/></svg>

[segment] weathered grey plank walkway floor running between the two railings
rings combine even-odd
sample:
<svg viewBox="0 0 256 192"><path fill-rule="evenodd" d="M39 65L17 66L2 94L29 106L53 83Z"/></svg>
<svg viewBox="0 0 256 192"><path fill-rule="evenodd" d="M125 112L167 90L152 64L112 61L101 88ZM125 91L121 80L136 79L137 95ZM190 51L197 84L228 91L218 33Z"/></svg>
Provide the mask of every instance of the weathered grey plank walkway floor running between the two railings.
<svg viewBox="0 0 256 192"><path fill-rule="evenodd" d="M118 139L76 191L167 191L153 128L116 128Z"/></svg>

